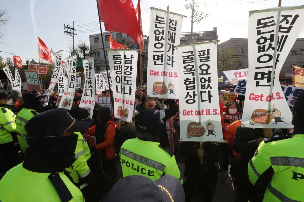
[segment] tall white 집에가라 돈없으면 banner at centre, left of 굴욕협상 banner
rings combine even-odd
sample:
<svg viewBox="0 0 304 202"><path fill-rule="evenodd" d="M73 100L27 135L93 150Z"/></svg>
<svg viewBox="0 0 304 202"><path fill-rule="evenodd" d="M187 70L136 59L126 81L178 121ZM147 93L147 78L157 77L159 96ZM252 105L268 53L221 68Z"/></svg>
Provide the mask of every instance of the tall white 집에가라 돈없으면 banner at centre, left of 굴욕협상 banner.
<svg viewBox="0 0 304 202"><path fill-rule="evenodd" d="M180 44L183 15L151 8L147 95L179 98L177 58L174 46Z"/></svg>

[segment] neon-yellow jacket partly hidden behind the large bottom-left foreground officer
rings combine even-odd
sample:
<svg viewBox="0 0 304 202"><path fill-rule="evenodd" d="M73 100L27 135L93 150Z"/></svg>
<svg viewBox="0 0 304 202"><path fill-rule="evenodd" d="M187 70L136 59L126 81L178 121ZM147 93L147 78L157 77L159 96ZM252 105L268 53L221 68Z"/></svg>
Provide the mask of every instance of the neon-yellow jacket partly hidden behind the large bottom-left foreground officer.
<svg viewBox="0 0 304 202"><path fill-rule="evenodd" d="M75 132L75 134L78 134L78 140L75 149L76 161L69 168L66 168L66 171L69 172L74 183L78 183L79 177L84 178L91 172L89 166L87 165L87 160L90 159L91 153L87 142L83 141L83 135L81 135L80 132Z"/></svg>

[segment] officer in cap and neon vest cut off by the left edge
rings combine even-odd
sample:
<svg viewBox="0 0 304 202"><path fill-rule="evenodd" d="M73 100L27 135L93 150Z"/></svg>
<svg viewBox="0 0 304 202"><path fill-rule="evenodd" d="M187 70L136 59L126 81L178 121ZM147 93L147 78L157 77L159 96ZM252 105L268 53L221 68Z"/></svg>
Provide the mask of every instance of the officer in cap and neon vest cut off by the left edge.
<svg viewBox="0 0 304 202"><path fill-rule="evenodd" d="M16 137L16 115L9 109L11 98L8 93L0 93L0 155L2 155L2 164L0 164L3 172L18 164L18 140Z"/></svg>

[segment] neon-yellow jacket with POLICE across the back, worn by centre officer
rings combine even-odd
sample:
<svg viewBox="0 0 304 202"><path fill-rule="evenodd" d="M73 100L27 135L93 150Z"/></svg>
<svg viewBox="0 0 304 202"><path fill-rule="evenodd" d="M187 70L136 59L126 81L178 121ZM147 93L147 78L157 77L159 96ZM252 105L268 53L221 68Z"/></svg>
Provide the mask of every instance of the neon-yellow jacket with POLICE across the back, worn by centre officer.
<svg viewBox="0 0 304 202"><path fill-rule="evenodd" d="M123 177L143 175L155 181L166 174L175 176L183 184L174 155L171 156L159 144L138 138L126 140L119 152Z"/></svg>

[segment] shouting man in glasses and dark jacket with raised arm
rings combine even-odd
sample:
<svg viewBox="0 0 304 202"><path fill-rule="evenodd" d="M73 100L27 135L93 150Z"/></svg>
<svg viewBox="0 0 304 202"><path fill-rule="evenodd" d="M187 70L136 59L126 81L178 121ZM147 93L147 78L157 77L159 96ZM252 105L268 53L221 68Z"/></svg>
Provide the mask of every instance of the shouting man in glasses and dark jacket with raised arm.
<svg viewBox="0 0 304 202"><path fill-rule="evenodd" d="M139 104L137 104L136 110L139 113L144 109L157 109L160 111L160 119L162 119L164 124L161 124L160 131L158 134L158 140L160 146L166 149L170 149L168 133L165 123L167 119L170 119L178 112L178 106L175 100L167 100L167 102L170 105L170 108L161 110L161 105L159 103L155 103L155 99L143 96Z"/></svg>

